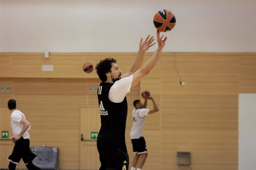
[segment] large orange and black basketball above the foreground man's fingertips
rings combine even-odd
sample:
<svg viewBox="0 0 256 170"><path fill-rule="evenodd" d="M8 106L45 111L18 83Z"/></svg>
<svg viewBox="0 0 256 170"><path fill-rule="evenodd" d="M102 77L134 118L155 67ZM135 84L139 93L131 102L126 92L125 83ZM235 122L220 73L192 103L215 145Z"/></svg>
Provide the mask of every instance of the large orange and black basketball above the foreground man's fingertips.
<svg viewBox="0 0 256 170"><path fill-rule="evenodd" d="M169 10L160 10L154 16L154 26L161 32L171 31L175 24L176 18L174 13Z"/></svg>

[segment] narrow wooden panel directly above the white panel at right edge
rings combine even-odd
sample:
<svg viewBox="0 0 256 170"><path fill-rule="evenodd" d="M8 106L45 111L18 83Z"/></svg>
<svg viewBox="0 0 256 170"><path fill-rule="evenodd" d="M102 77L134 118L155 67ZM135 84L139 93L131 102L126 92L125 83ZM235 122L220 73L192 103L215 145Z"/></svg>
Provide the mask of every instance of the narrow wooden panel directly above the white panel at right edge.
<svg viewBox="0 0 256 170"><path fill-rule="evenodd" d="M240 56L239 66L239 93L256 93L256 56Z"/></svg>

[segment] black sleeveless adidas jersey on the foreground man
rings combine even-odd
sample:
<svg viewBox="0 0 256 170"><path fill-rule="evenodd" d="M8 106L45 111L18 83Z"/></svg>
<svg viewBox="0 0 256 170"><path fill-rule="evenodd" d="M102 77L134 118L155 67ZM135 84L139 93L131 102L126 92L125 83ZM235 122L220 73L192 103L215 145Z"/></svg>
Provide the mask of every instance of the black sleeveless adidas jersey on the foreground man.
<svg viewBox="0 0 256 170"><path fill-rule="evenodd" d="M98 89L101 129L97 139L99 154L110 154L116 149L127 152L125 144L125 126L127 119L126 97L121 103L111 102L108 93L112 83L101 83Z"/></svg>

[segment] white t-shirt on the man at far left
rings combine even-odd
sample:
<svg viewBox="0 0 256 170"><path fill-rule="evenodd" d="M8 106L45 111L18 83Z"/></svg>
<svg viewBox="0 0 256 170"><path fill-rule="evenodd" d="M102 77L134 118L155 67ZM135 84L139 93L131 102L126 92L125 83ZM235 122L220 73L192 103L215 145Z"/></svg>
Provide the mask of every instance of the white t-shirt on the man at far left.
<svg viewBox="0 0 256 170"><path fill-rule="evenodd" d="M13 135L19 135L22 131L24 125L20 123L21 119L25 119L25 115L20 110L14 110L11 114L11 126L13 130ZM24 139L29 139L29 132L31 126L26 130L26 132L22 135Z"/></svg>

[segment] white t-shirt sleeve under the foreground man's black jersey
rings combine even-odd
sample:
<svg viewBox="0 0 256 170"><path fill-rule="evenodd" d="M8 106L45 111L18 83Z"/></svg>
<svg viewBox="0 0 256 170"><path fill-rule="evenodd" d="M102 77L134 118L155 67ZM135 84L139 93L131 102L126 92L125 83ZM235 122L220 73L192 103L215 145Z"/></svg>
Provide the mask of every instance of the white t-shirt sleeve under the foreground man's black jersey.
<svg viewBox="0 0 256 170"><path fill-rule="evenodd" d="M130 92L132 78L133 75L121 78L111 86L108 93L108 98L111 102L121 103L124 100L125 95Z"/></svg>

